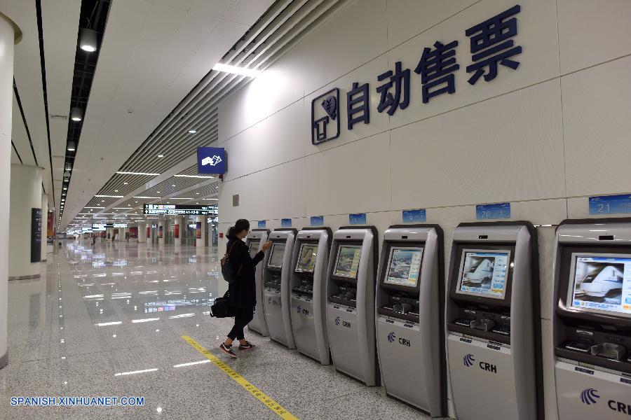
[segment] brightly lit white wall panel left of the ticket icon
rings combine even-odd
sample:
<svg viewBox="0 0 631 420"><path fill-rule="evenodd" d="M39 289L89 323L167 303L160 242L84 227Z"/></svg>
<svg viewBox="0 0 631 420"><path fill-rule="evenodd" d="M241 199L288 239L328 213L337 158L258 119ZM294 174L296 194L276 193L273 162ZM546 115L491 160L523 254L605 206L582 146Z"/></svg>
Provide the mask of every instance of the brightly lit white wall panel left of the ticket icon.
<svg viewBox="0 0 631 420"><path fill-rule="evenodd" d="M305 125L302 101L294 102L226 141L222 145L230 156L226 180L302 158Z"/></svg>

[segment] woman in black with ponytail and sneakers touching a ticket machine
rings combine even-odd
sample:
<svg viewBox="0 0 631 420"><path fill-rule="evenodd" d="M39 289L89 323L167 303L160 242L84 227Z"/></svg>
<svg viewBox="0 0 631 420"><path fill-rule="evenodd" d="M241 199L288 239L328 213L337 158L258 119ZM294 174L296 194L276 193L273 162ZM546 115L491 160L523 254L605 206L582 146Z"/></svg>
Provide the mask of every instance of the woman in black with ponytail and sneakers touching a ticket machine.
<svg viewBox="0 0 631 420"><path fill-rule="evenodd" d="M235 309L234 326L228 333L228 338L223 342L221 349L228 356L236 358L236 353L232 350L232 342L239 340L239 350L251 350L255 348L245 339L243 328L254 318L254 308L257 304L255 267L265 256L265 251L271 248L271 241L261 247L261 250L254 256L250 256L250 250L243 241L243 238L250 232L250 222L239 219L235 225L228 230L228 244L226 253L229 255L230 264L236 273L236 279L228 288L231 306Z"/></svg>

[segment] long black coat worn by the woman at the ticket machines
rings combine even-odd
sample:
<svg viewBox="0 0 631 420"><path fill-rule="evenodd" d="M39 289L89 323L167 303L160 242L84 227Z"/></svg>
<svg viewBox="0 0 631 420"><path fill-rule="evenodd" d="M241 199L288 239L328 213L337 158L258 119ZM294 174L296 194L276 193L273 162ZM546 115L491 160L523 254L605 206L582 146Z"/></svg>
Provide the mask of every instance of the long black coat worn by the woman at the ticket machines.
<svg viewBox="0 0 631 420"><path fill-rule="evenodd" d="M253 308L257 304L255 267L265 256L259 251L254 258L244 241L238 237L228 237L226 249L230 251L229 260L234 272L239 272L236 281L230 283L230 304L237 308ZM239 271L240 267L240 271Z"/></svg>

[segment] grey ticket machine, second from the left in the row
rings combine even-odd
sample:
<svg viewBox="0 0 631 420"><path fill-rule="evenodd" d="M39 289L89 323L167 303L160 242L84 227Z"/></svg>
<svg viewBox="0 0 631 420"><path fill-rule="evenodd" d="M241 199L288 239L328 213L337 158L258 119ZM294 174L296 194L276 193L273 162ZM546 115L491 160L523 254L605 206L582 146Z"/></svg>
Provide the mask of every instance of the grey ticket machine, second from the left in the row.
<svg viewBox="0 0 631 420"><path fill-rule="evenodd" d="M277 229L269 234L273 242L263 274L263 310L269 337L290 349L296 348L290 318L290 274L295 229Z"/></svg>

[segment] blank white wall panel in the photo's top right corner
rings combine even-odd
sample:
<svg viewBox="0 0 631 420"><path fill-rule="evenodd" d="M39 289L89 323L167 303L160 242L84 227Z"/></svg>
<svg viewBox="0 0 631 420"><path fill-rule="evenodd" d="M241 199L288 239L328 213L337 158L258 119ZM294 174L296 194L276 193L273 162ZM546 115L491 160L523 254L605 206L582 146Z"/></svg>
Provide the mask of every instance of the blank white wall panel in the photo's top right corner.
<svg viewBox="0 0 631 420"><path fill-rule="evenodd" d="M631 53L631 1L557 0L561 73Z"/></svg>

